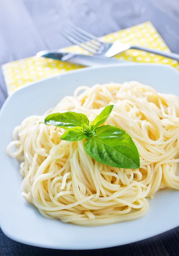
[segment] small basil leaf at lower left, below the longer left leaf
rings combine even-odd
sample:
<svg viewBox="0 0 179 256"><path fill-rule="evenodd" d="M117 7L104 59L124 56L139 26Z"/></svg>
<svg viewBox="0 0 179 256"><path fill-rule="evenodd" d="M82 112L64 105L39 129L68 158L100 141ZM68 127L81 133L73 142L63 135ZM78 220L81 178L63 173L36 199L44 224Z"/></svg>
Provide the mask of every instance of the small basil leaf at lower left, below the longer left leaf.
<svg viewBox="0 0 179 256"><path fill-rule="evenodd" d="M83 132L83 128L80 126L73 127L65 131L65 133L60 137L61 140L68 141L78 141L87 138L86 134Z"/></svg>

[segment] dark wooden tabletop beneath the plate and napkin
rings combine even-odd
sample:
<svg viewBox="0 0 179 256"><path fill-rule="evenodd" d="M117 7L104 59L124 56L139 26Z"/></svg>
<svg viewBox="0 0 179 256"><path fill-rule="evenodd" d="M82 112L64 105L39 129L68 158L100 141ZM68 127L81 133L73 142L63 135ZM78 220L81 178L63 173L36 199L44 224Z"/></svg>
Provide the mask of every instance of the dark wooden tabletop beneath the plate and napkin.
<svg viewBox="0 0 179 256"><path fill-rule="evenodd" d="M97 36L151 20L172 52L179 53L179 0L0 0L0 65L43 49L69 46L60 35L67 20ZM6 97L0 70L0 107ZM0 230L0 256L66 254L179 256L179 227L133 244L87 251L32 247L9 239Z"/></svg>

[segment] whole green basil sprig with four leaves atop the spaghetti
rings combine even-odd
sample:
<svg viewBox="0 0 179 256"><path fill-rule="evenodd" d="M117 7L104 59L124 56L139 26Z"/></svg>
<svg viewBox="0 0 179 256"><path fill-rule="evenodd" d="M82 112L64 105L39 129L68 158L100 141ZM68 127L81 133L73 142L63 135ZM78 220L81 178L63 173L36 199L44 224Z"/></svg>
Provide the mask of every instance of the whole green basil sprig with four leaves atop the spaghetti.
<svg viewBox="0 0 179 256"><path fill-rule="evenodd" d="M100 163L125 169L140 166L139 153L131 137L122 129L102 125L111 114L114 105L108 105L89 125L88 117L82 113L53 113L45 118L45 125L66 129L61 140L85 140L87 154ZM99 126L102 125L102 126Z"/></svg>

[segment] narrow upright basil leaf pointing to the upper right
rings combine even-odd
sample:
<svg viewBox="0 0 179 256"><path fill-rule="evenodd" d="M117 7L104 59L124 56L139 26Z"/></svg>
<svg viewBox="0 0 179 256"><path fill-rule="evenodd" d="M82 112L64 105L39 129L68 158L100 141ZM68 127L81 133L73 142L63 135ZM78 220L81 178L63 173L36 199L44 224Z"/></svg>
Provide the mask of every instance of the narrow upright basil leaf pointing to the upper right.
<svg viewBox="0 0 179 256"><path fill-rule="evenodd" d="M108 105L107 107L105 107L103 111L91 122L91 129L93 130L99 125L102 125L111 114L113 108L114 105Z"/></svg>

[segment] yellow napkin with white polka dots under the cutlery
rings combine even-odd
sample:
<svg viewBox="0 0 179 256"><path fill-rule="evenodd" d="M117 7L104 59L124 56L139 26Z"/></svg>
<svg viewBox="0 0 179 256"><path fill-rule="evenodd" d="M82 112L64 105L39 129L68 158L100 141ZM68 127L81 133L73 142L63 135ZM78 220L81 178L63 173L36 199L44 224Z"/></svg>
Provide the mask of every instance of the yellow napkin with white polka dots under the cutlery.
<svg viewBox="0 0 179 256"><path fill-rule="evenodd" d="M105 35L100 39L110 43L120 39L122 43L141 45L170 52L170 49L150 21ZM77 45L64 48L62 51L88 54L88 51L83 50ZM134 49L122 52L116 55L116 58L126 61L169 64L179 70L179 63L177 61ZM2 69L8 93L11 93L24 84L80 67L82 66L53 59L30 57L4 64Z"/></svg>

